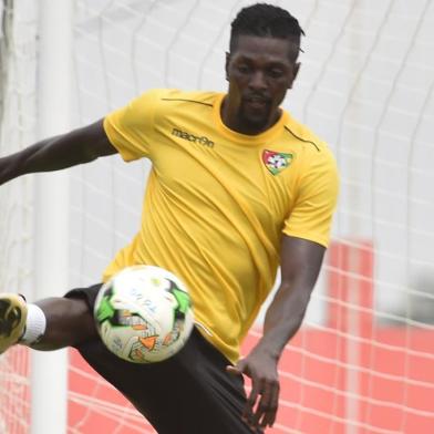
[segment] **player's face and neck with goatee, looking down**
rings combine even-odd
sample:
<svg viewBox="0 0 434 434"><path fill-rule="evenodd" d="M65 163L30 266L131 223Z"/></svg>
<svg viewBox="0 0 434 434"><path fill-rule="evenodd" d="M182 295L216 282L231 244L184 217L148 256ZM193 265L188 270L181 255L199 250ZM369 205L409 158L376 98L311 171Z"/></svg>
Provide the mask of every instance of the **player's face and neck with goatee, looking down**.
<svg viewBox="0 0 434 434"><path fill-rule="evenodd" d="M287 39L239 35L227 55L228 97L224 122L244 134L258 134L279 117L279 105L292 86L298 45ZM292 55L291 55L292 54Z"/></svg>

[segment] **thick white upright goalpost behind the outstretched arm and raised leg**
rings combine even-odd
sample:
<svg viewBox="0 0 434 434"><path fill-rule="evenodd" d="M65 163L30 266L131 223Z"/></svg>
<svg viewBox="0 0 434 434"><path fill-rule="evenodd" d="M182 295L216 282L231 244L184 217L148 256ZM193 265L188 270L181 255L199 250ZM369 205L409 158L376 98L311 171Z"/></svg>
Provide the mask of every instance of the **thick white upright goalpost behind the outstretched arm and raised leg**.
<svg viewBox="0 0 434 434"><path fill-rule="evenodd" d="M72 0L40 2L38 59L38 138L71 128L73 75ZM69 286L70 182L65 172L35 177L35 300L63 296ZM43 250L40 251L41 246ZM34 352L31 364L30 432L65 433L68 350ZM50 414L50 417L46 415Z"/></svg>

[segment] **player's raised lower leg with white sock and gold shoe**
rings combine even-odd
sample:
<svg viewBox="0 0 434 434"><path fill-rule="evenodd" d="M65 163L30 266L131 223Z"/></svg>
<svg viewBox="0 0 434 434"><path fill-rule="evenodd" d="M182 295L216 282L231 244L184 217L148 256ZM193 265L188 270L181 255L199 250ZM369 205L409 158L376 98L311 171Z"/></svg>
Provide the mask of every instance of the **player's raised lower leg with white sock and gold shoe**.
<svg viewBox="0 0 434 434"><path fill-rule="evenodd" d="M0 353L17 343L50 351L96 337L82 299L50 298L28 304L19 294L0 293Z"/></svg>

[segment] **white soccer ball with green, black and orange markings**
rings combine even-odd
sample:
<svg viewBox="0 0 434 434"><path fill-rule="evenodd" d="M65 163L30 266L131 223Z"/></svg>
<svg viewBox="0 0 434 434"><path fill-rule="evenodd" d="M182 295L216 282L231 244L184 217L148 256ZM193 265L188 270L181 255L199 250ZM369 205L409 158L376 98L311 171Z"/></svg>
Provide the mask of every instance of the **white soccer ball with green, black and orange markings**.
<svg viewBox="0 0 434 434"><path fill-rule="evenodd" d="M125 268L104 283L95 300L94 318L106 348L134 363L174 355L194 324L185 285L153 266Z"/></svg>

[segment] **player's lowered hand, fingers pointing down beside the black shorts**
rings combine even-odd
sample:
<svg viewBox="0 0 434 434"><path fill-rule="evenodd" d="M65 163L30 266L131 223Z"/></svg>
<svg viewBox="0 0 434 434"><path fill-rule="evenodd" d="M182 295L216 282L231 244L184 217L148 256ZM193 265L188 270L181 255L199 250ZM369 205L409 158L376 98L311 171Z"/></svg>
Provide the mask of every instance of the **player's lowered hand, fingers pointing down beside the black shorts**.
<svg viewBox="0 0 434 434"><path fill-rule="evenodd" d="M242 420L252 430L272 426L275 423L280 391L277 363L276 358L255 349L235 366L227 366L229 373L245 374L251 379L251 392L247 399Z"/></svg>

